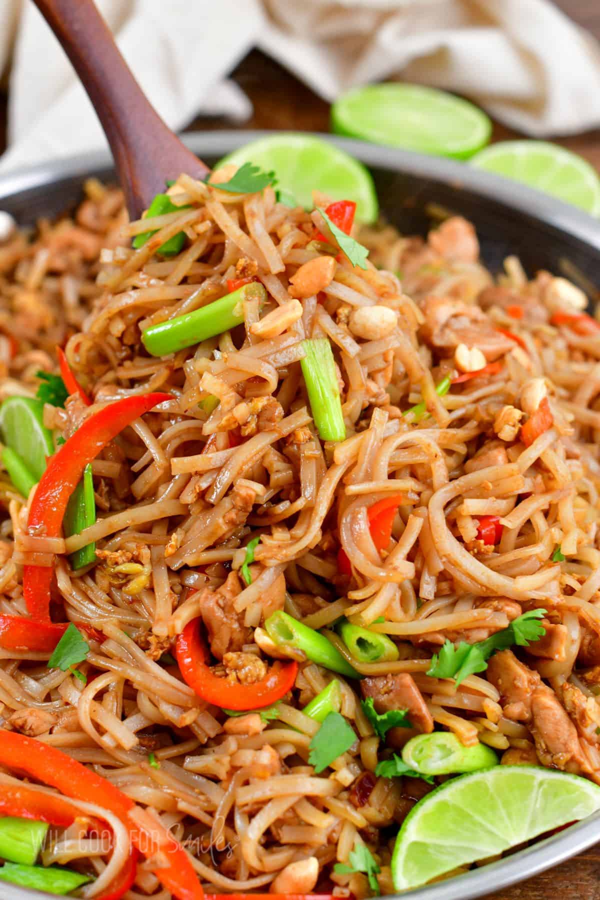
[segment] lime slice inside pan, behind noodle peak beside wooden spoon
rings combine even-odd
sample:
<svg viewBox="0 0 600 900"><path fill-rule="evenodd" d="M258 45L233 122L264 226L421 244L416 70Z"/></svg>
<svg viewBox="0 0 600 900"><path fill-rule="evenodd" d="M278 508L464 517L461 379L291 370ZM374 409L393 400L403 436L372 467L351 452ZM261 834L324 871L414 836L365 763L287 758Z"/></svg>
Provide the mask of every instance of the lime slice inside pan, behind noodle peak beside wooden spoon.
<svg viewBox="0 0 600 900"><path fill-rule="evenodd" d="M379 207L371 174L362 163L326 140L293 132L273 134L234 150L215 168L247 162L267 172L274 170L277 189L284 192L283 202L288 205L291 194L300 206L311 210L312 192L317 190L333 200L354 200L356 218L362 222L377 219Z"/></svg>

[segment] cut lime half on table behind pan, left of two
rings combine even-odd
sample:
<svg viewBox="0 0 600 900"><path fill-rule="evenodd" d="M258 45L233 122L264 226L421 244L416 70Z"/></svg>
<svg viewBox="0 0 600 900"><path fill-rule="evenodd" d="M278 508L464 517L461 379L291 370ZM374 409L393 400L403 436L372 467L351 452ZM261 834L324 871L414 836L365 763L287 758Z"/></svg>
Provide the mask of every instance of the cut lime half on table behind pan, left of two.
<svg viewBox="0 0 600 900"><path fill-rule="evenodd" d="M376 144L468 159L486 146L492 123L454 94L390 82L341 96L331 108L331 128Z"/></svg>

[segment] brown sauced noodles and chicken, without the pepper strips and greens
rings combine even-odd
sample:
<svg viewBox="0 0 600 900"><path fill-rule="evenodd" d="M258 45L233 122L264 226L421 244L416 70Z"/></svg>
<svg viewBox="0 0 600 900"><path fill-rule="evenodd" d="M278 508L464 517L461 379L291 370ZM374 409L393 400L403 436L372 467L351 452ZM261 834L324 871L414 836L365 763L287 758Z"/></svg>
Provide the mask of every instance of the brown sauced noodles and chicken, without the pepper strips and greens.
<svg viewBox="0 0 600 900"><path fill-rule="evenodd" d="M564 279L528 280L514 257L490 275L459 218L426 240L362 229L371 251L363 270L315 240L318 212L288 208L272 187L240 195L182 175L169 193L183 209L127 224L121 194L90 182L75 220L42 222L35 236L0 247L2 399L34 396L36 372L56 369L54 347L65 344L93 405L76 395L64 410L47 405L56 437L124 397L172 397L94 461L97 522L59 548L43 536L35 549L28 543L31 497L3 474L0 613L26 615L22 565L58 548L53 617L94 626L104 640L90 640L79 666L86 684L50 670L49 654L0 651L2 726L58 747L148 807L212 892L273 885L368 896L363 873L333 868L359 840L390 893L393 838L432 788L373 773L418 731L448 729L503 762L539 761L600 784L600 330L580 327L585 298ZM150 227L157 235L131 248ZM176 257L154 252L182 230ZM318 257L333 260L333 277L310 293L295 274ZM262 310L250 300L237 329L148 355L143 331L219 299L240 278L264 285ZM300 370L304 338L333 348L343 442L318 437ZM499 365L470 375L489 363ZM445 395L435 391L461 372L468 377ZM551 427L525 446L520 429L544 399ZM425 413L406 414L421 401ZM368 509L397 494L380 553ZM479 535L488 516L501 527L495 544ZM246 584L240 567L257 536ZM74 574L68 554L93 541L97 562ZM538 608L542 639L497 654L458 689L426 674L447 639L479 642ZM372 682L376 701L397 675L410 676L402 684L416 727L381 740L361 682L302 653L275 718L228 716L166 655L202 617L215 671L251 683L285 657L264 631L278 609L323 629L364 676L391 678ZM342 616L389 635L399 659L357 662L334 630ZM513 696L508 681L523 672ZM301 710L333 677L356 741L317 774L309 743L319 725ZM532 706L538 695L545 716ZM107 863L121 865L126 835L114 825L111 857L80 829L56 830L44 862L93 870L100 878L84 894L94 896L110 881ZM286 869L299 860L306 865ZM148 895L170 896L139 864L127 896Z"/></svg>

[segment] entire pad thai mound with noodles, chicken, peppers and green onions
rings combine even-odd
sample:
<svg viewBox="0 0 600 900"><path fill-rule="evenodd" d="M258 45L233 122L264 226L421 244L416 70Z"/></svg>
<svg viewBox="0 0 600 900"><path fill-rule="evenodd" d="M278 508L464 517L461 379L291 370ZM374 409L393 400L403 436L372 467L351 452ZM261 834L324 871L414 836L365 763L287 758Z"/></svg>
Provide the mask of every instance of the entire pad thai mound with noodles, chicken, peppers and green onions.
<svg viewBox="0 0 600 900"><path fill-rule="evenodd" d="M0 812L56 893L389 894L449 775L600 784L586 295L241 173L0 245Z"/></svg>

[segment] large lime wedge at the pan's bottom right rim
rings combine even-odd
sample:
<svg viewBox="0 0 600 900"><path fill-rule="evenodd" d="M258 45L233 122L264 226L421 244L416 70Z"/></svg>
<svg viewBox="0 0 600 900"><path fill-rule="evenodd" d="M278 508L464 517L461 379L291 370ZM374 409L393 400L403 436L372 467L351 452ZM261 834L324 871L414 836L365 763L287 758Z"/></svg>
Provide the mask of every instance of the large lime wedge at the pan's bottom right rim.
<svg viewBox="0 0 600 900"><path fill-rule="evenodd" d="M391 860L397 891L485 860L600 809L600 788L541 766L495 766L446 781L412 808Z"/></svg>

